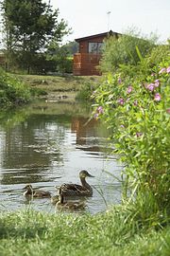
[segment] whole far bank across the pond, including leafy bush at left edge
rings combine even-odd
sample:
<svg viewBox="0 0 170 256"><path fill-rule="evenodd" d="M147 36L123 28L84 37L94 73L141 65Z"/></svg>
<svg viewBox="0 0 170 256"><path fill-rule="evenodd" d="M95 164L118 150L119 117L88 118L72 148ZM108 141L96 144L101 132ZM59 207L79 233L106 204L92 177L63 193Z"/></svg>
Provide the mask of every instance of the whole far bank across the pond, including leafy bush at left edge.
<svg viewBox="0 0 170 256"><path fill-rule="evenodd" d="M8 74L0 69L0 106L13 107L43 98L46 101L76 101L90 99L99 77L71 75L38 76Z"/></svg>

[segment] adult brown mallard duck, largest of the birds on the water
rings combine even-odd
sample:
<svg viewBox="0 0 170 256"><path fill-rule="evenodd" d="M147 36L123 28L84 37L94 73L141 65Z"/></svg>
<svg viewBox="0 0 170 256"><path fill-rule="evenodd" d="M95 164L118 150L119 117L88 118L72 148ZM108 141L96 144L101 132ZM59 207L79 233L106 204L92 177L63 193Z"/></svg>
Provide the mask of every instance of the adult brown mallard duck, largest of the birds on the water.
<svg viewBox="0 0 170 256"><path fill-rule="evenodd" d="M81 185L77 184L62 184L59 187L59 191L63 194L63 196L92 196L93 188L87 183L86 177L94 177L89 174L87 171L83 170L79 173L79 178L81 181Z"/></svg>

